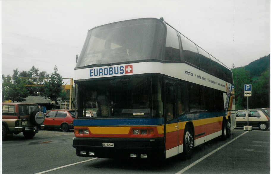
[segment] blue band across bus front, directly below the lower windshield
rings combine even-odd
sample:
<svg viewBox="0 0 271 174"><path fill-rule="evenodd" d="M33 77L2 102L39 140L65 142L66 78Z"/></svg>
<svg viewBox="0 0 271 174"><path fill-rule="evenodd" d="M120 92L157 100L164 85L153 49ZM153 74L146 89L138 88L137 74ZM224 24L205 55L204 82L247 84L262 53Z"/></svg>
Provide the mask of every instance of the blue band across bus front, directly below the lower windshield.
<svg viewBox="0 0 271 174"><path fill-rule="evenodd" d="M73 126L119 126L119 125L161 125L164 118L94 118L74 119Z"/></svg>

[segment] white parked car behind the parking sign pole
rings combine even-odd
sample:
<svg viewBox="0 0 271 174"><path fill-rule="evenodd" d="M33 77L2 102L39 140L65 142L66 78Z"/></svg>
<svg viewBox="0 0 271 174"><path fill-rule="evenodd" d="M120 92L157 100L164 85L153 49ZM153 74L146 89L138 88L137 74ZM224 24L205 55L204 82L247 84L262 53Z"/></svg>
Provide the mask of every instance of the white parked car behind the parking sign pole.
<svg viewBox="0 0 271 174"><path fill-rule="evenodd" d="M242 127L249 126L259 127L260 130L266 130L270 125L270 118L263 109L249 109L237 110L236 115L236 126Z"/></svg>

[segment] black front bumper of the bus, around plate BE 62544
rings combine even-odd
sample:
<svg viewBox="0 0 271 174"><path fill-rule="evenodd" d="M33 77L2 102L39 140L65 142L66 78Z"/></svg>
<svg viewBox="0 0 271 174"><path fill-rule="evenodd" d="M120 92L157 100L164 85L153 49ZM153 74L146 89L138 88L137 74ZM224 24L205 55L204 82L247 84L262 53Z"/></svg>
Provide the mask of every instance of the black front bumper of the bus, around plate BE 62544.
<svg viewBox="0 0 271 174"><path fill-rule="evenodd" d="M110 143L111 147L104 147ZM77 156L100 158L164 158L164 138L93 138L74 137L73 147Z"/></svg>

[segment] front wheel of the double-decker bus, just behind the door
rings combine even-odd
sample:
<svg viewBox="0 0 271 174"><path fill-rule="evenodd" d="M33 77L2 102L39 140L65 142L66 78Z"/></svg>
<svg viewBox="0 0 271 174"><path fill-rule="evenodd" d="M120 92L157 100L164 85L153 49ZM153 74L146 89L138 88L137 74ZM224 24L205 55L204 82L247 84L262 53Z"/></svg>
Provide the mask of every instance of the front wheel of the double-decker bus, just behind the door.
<svg viewBox="0 0 271 174"><path fill-rule="evenodd" d="M194 148L194 135L191 126L185 126L183 142L183 155L186 159L190 159Z"/></svg>

